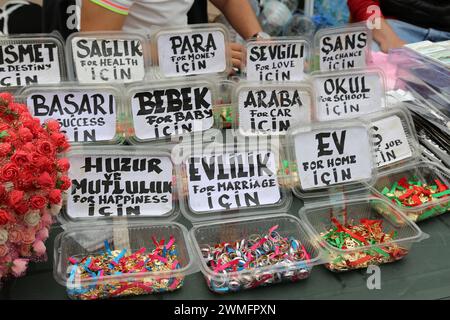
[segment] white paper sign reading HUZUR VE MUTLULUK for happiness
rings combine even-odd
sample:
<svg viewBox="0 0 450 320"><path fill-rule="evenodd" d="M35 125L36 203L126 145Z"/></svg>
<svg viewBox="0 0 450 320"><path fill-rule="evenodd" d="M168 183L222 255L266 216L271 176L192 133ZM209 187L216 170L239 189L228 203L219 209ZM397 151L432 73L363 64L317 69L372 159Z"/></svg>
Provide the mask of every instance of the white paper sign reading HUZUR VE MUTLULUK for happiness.
<svg viewBox="0 0 450 320"><path fill-rule="evenodd" d="M172 210L168 157L73 156L69 176L72 218L161 216Z"/></svg>

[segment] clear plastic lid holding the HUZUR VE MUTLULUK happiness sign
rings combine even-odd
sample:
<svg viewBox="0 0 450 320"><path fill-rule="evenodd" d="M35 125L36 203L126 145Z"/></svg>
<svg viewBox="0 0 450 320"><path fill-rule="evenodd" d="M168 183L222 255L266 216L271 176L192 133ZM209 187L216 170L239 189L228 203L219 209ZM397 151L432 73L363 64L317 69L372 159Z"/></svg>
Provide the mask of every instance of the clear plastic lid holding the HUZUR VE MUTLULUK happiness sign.
<svg viewBox="0 0 450 320"><path fill-rule="evenodd" d="M84 146L68 153L72 187L64 224L111 219L175 219L179 213L170 149L144 146Z"/></svg>

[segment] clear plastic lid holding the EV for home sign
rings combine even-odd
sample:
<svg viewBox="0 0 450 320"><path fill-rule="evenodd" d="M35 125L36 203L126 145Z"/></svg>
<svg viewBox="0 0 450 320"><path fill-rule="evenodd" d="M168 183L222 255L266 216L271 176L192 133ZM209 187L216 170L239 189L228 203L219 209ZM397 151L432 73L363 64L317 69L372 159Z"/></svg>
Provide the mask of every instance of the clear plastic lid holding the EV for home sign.
<svg viewBox="0 0 450 320"><path fill-rule="evenodd" d="M361 119L302 125L287 134L288 183L301 199L362 191L376 179L370 124Z"/></svg>

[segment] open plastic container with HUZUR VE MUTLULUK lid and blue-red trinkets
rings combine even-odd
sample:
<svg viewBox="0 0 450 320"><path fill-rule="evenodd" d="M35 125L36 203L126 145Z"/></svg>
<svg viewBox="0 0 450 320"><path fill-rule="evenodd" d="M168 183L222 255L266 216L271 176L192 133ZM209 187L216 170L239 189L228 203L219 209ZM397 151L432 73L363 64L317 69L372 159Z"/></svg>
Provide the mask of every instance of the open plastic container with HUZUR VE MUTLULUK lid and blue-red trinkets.
<svg viewBox="0 0 450 320"><path fill-rule="evenodd" d="M69 297L179 289L198 269L186 228L172 222L179 210L167 149L89 146L68 158L72 189L59 216L54 276Z"/></svg>

